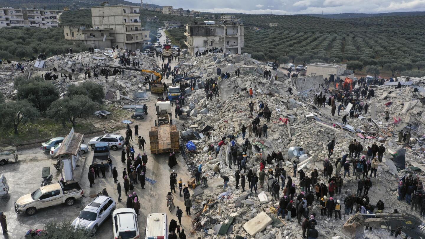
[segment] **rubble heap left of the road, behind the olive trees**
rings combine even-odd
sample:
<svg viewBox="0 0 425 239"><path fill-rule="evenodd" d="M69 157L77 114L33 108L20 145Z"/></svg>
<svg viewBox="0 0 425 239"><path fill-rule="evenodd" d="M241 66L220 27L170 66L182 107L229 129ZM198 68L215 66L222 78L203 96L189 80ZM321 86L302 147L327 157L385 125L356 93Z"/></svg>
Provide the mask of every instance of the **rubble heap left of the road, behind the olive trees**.
<svg viewBox="0 0 425 239"><path fill-rule="evenodd" d="M134 53L133 53L134 54ZM62 54L48 57L45 60L28 60L19 63L23 66L23 72L17 69L17 62L0 65L0 90L6 93L6 97L12 98L17 94L13 88L13 79L17 76L28 77L44 77L45 74L57 75L57 79L52 80L59 92L66 92L69 85L79 85L85 81L93 81L105 86L106 100L111 102L129 103L140 98L147 98L146 86L142 83L148 75L137 71L125 71L124 75L113 74L113 68L108 68L108 82L106 82L105 74L102 74L101 66L109 65L120 66L120 56L130 58L130 63L139 62L136 68L146 70L158 70L156 60L136 52L134 55L129 54L125 50L96 50L94 53L88 51ZM133 66L130 66L133 67ZM91 71L91 78L85 75L85 71ZM98 79L94 77L94 71L98 73ZM63 75L71 74L64 79ZM63 94L62 94L63 95Z"/></svg>

